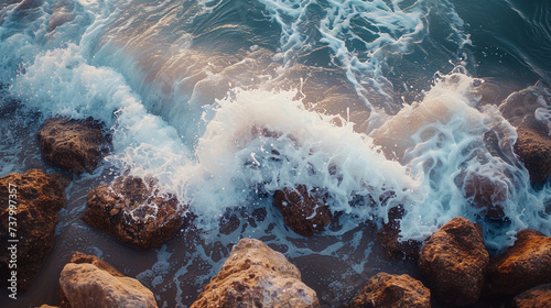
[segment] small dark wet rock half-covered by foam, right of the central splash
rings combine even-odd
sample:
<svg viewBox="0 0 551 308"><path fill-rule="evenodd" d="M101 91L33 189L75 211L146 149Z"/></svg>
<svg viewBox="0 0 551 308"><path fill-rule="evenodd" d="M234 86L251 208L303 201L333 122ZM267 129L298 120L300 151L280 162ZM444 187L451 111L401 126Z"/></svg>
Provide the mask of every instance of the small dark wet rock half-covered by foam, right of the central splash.
<svg viewBox="0 0 551 308"><path fill-rule="evenodd" d="M421 243L412 240L400 241L400 219L403 217L403 208L395 207L388 211L388 223L377 231L376 237L386 250L386 256L390 260L408 258L414 260L419 255Z"/></svg>

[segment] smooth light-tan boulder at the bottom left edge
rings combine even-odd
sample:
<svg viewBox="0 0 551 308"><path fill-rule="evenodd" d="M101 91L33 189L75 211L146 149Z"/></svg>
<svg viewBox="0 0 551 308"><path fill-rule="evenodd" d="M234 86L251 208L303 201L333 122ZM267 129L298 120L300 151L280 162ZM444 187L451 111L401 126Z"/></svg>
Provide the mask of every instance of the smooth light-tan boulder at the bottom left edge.
<svg viewBox="0 0 551 308"><path fill-rule="evenodd" d="M75 253L60 277L60 307L158 307L153 293L101 260Z"/></svg>

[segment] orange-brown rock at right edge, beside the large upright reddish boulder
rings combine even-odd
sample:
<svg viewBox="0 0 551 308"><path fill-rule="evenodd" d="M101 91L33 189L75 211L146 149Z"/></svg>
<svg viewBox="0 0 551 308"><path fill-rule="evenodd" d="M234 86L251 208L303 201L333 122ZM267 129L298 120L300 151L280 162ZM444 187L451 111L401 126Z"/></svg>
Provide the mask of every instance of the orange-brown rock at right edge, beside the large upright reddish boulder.
<svg viewBox="0 0 551 308"><path fill-rule="evenodd" d="M530 229L519 231L515 245L490 260L486 283L489 293L505 295L551 283L551 238Z"/></svg>

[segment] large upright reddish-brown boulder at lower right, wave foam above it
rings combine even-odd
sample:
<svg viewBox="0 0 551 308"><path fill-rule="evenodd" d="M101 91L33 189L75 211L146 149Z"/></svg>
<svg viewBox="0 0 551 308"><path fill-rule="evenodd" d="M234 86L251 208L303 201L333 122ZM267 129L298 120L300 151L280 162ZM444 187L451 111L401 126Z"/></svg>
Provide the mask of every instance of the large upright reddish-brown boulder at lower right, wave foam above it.
<svg viewBox="0 0 551 308"><path fill-rule="evenodd" d="M478 300L488 262L482 229L456 217L424 243L418 264L436 299L460 307Z"/></svg>

